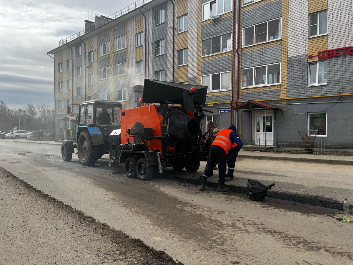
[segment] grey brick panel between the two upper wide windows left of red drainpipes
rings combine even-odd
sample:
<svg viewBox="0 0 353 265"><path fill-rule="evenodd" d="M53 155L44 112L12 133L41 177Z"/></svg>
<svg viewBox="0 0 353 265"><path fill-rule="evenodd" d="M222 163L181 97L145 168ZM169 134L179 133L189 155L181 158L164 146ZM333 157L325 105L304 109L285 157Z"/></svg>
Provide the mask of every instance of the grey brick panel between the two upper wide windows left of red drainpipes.
<svg viewBox="0 0 353 265"><path fill-rule="evenodd" d="M210 20L210 23L201 26L201 39L232 33L232 16L220 20Z"/></svg>

